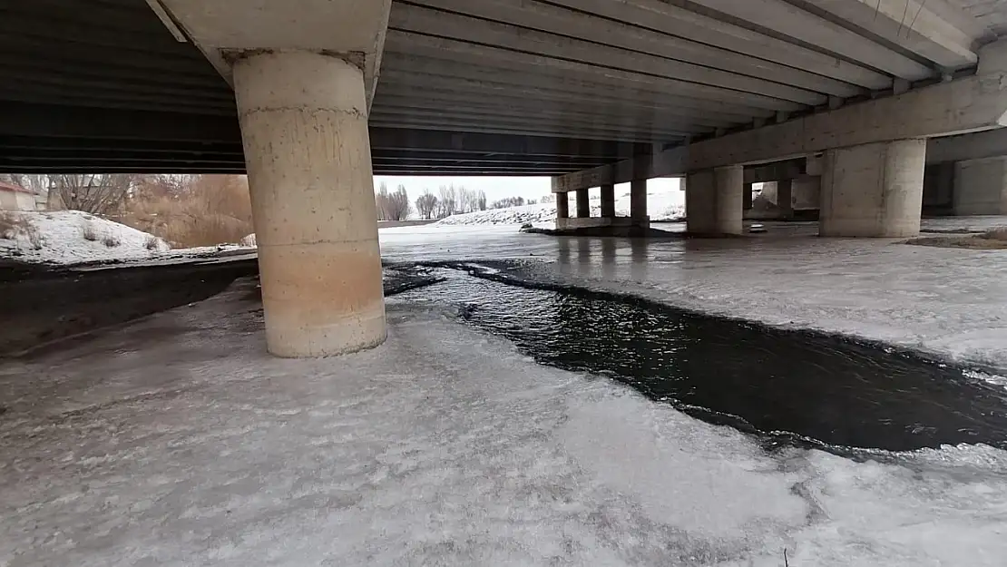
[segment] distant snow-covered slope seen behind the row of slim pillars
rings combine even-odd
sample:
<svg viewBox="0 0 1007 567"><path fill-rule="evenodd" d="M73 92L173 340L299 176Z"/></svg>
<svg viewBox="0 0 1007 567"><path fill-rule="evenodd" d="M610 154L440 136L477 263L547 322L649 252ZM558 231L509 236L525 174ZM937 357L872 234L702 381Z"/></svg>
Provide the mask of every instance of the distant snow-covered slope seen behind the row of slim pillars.
<svg viewBox="0 0 1007 567"><path fill-rule="evenodd" d="M646 209L652 221L681 221L685 219L684 193L677 190L663 190L648 193ZM570 209L573 210L574 197L570 197ZM629 216L629 193L619 195L615 199L615 214L619 217ZM601 199L591 199L591 216L601 216ZM554 223L556 221L556 203L526 204L509 208L492 208L464 215L454 215L442 219L437 226L456 225L524 225L531 223Z"/></svg>

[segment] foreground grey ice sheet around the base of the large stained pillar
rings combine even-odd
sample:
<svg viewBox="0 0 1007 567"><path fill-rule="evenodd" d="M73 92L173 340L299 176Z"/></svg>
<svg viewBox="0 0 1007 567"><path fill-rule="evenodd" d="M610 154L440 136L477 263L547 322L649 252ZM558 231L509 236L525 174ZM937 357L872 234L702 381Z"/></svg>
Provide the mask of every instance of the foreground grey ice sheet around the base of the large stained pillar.
<svg viewBox="0 0 1007 567"><path fill-rule="evenodd" d="M1002 565L1003 451L762 452L403 301L265 353L251 285L0 365L0 565Z"/></svg>

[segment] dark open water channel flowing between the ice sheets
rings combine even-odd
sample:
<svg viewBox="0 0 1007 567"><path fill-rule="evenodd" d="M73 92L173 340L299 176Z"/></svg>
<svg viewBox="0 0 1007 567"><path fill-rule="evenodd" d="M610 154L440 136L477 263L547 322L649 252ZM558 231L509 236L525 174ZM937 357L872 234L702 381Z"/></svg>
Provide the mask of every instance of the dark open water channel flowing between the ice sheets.
<svg viewBox="0 0 1007 567"><path fill-rule="evenodd" d="M397 271L403 280L435 282L404 298L457 306L464 320L540 364L610 377L769 443L1007 448L1007 391L919 355L541 285L477 266L399 266L390 273Z"/></svg>

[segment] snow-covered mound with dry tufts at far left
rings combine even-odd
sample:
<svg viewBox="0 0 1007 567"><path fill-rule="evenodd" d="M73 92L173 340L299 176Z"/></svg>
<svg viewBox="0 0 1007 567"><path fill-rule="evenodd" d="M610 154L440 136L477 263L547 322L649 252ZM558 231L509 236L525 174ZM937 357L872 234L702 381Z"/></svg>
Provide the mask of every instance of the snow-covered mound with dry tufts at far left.
<svg viewBox="0 0 1007 567"><path fill-rule="evenodd" d="M80 210L4 215L20 227L0 235L0 257L22 262L140 260L169 249L167 243L153 235Z"/></svg>

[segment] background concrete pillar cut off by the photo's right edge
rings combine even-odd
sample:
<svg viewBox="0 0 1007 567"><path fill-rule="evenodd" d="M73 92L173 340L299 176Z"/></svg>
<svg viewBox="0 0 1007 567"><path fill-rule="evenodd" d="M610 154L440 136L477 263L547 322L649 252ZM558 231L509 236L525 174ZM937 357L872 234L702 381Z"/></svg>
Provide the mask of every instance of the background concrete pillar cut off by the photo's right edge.
<svg viewBox="0 0 1007 567"><path fill-rule="evenodd" d="M1007 157L955 164L955 215L1007 215Z"/></svg>

